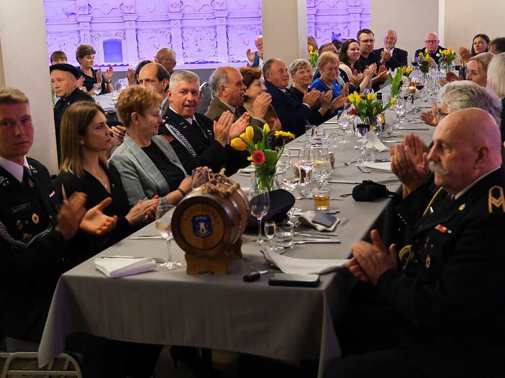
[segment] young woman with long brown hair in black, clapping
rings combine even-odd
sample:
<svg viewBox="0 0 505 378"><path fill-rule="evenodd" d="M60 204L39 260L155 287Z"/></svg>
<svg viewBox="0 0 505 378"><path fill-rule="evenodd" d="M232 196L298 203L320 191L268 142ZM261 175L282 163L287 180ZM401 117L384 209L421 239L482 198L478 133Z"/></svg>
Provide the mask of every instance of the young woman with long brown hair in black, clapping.
<svg viewBox="0 0 505 378"><path fill-rule="evenodd" d="M86 249L92 255L131 234L143 221L150 220L158 204L158 198L154 198L133 207L129 205L119 172L105 159L111 148L112 133L106 121L102 107L93 102L70 105L62 118L62 164L53 182L64 198L74 192L86 194L88 209L107 197L112 198L112 204L103 211L118 219L111 233L99 238L79 233L74 237L78 249Z"/></svg>

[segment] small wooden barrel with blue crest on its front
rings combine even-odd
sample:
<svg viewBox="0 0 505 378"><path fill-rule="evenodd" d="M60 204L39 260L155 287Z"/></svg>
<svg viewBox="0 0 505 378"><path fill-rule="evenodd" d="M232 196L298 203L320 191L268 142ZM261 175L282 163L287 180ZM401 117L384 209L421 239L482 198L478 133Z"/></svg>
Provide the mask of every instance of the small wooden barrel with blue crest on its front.
<svg viewBox="0 0 505 378"><path fill-rule="evenodd" d="M227 183L217 186L220 190L229 187ZM241 189L227 198L192 191L174 211L174 240L187 254L197 258L232 258L231 246L240 240L249 212L249 201Z"/></svg>

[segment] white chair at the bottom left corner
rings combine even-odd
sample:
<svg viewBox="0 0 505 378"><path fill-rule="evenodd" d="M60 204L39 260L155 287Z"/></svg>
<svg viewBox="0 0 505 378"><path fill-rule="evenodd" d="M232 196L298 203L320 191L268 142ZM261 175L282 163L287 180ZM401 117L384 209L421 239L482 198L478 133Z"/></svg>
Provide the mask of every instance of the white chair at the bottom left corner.
<svg viewBox="0 0 505 378"><path fill-rule="evenodd" d="M38 367L37 352L2 353L0 359L6 359L0 378L10 376L45 376L82 378L81 368L74 357L62 353L47 365Z"/></svg>

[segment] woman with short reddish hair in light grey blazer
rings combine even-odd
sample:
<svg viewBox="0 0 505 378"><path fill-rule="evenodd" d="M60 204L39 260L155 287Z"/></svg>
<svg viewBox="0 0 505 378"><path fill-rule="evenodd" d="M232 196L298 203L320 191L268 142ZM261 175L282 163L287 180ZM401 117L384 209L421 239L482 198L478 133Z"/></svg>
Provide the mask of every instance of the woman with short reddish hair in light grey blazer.
<svg viewBox="0 0 505 378"><path fill-rule="evenodd" d="M154 196L160 205L175 205L191 190L191 177L170 143L158 135L161 100L153 88L133 85L116 104L127 132L109 162L119 171L131 206Z"/></svg>

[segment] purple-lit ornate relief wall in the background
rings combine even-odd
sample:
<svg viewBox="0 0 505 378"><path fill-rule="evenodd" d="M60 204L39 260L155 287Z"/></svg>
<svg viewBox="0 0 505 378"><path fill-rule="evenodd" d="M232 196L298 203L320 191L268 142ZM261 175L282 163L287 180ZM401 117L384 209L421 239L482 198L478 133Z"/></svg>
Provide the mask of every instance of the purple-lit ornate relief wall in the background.
<svg viewBox="0 0 505 378"><path fill-rule="evenodd" d="M178 65L239 62L261 34L261 0L44 0L44 10L48 57L63 50L75 65L81 43L98 66L135 66L160 47ZM369 26L370 0L307 1L308 34L320 44Z"/></svg>

